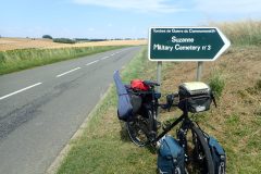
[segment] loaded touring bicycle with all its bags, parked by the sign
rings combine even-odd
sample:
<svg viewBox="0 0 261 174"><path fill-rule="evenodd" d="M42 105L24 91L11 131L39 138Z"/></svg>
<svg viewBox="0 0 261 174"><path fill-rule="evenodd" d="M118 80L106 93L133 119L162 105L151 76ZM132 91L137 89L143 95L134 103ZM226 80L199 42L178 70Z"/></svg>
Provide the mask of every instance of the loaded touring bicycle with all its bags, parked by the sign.
<svg viewBox="0 0 261 174"><path fill-rule="evenodd" d="M125 122L129 138L135 145L139 147L159 145L158 169L160 172L164 173L167 167L170 171L170 165L166 166L167 162L163 160L164 157L175 159L173 153L177 153L173 148L182 147L178 154L183 157L176 157L171 163L179 160L179 163L185 163L184 166L181 165L183 169L176 167L165 173L225 173L224 149L216 139L204 133L194 122L197 113L208 111L212 102L216 107L213 92L207 84L184 83L179 85L177 92L166 95L165 103L159 103L161 94L154 89L159 86L158 83L135 79L130 85L125 85L122 83L119 71L114 73L113 78L119 96L117 116ZM170 110L172 107L181 109L182 115L172 123L161 124L157 120L158 109ZM176 139L170 138L166 134L175 126L179 126L176 129ZM162 127L161 133L160 127Z"/></svg>

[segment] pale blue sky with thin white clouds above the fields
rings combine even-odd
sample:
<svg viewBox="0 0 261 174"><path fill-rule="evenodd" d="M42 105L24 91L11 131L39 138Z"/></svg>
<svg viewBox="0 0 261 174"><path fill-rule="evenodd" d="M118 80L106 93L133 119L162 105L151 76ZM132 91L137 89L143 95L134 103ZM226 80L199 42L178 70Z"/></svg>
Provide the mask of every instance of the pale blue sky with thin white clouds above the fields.
<svg viewBox="0 0 261 174"><path fill-rule="evenodd" d="M261 20L260 0L1 0L0 36L147 38L151 26Z"/></svg>

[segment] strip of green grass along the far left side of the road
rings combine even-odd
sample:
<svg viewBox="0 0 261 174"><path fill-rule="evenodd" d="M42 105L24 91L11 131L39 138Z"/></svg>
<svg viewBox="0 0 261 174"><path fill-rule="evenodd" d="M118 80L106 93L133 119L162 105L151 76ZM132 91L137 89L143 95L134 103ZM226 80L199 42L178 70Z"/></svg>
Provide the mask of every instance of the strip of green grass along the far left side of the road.
<svg viewBox="0 0 261 174"><path fill-rule="evenodd" d="M0 75L120 48L123 47L105 46L0 51Z"/></svg>

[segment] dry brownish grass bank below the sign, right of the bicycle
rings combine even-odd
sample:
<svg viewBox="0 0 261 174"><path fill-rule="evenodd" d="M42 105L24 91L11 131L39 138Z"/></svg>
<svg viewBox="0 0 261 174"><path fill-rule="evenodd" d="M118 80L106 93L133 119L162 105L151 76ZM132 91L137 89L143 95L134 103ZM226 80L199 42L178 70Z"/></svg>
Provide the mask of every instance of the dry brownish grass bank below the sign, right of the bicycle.
<svg viewBox="0 0 261 174"><path fill-rule="evenodd" d="M227 152L228 173L261 171L261 50L234 47L215 62L203 64L203 82L220 73L225 88L215 109L201 114L199 124L215 136ZM195 80L196 63L178 63L163 74L163 92L177 90L183 82ZM161 117L170 117L163 113Z"/></svg>

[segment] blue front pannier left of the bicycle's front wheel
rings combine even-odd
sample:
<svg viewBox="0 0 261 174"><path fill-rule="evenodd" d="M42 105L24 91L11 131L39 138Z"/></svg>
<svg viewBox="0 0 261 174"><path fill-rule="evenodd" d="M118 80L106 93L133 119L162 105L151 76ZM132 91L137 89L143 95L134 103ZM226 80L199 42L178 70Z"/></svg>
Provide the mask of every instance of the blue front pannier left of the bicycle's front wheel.
<svg viewBox="0 0 261 174"><path fill-rule="evenodd" d="M160 141L157 161L159 173L184 174L185 153L183 147L172 136L165 136Z"/></svg>

